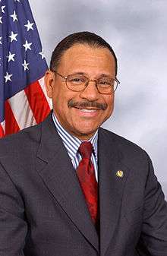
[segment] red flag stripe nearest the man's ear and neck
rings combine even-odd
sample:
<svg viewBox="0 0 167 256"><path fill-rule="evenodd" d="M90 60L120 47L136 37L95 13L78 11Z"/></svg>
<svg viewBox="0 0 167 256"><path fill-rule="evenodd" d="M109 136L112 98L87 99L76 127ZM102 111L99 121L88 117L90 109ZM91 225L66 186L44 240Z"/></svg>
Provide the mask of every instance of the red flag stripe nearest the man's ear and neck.
<svg viewBox="0 0 167 256"><path fill-rule="evenodd" d="M38 81L30 84L25 90L30 108L33 111L36 123L42 122L50 112L49 103Z"/></svg>

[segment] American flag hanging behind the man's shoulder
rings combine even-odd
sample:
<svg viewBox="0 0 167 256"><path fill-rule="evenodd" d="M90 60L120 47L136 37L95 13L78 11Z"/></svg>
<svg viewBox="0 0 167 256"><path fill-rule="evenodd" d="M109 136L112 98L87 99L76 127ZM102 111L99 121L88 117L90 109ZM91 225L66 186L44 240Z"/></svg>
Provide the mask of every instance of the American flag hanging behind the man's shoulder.
<svg viewBox="0 0 167 256"><path fill-rule="evenodd" d="M46 69L28 0L0 0L0 137L49 114Z"/></svg>

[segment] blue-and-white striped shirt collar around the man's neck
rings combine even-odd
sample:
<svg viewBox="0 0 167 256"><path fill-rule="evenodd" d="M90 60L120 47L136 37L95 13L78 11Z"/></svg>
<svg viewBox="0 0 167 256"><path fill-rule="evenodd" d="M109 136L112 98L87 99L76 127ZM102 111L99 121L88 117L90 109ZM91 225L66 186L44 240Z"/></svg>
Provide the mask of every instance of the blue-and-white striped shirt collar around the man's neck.
<svg viewBox="0 0 167 256"><path fill-rule="evenodd" d="M78 139L77 137L74 137L73 135L69 134L68 131L66 131L65 128L62 127L60 122L58 122L58 119L56 118L54 112L52 112L52 119L55 124L55 128L58 131L58 134L60 135L63 143L65 144L65 147L68 150L69 155L71 156L71 159L74 158L77 155L77 150L83 141L80 141L80 139ZM96 161L97 161L97 140L98 140L98 130L93 135L93 137L91 137L89 140L91 144L93 144L93 153L96 157Z"/></svg>

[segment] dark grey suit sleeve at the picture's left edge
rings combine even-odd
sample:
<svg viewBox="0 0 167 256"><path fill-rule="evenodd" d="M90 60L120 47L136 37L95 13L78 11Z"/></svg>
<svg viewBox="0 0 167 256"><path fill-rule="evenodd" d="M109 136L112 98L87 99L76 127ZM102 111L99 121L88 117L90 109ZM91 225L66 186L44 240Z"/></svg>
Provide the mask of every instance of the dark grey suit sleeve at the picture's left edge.
<svg viewBox="0 0 167 256"><path fill-rule="evenodd" d="M24 256L24 201L0 163L0 255Z"/></svg>

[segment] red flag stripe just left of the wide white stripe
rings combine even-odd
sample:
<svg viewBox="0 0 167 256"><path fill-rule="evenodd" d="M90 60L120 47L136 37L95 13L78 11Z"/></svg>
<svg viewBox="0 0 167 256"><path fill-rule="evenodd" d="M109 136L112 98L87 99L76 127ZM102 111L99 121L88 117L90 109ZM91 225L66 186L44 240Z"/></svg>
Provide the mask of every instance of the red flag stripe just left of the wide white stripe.
<svg viewBox="0 0 167 256"><path fill-rule="evenodd" d="M8 100L5 101L5 135L20 131Z"/></svg>

